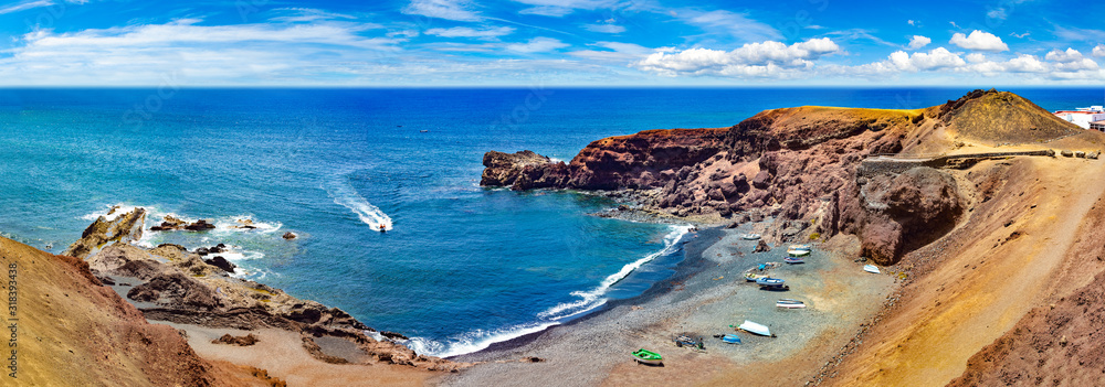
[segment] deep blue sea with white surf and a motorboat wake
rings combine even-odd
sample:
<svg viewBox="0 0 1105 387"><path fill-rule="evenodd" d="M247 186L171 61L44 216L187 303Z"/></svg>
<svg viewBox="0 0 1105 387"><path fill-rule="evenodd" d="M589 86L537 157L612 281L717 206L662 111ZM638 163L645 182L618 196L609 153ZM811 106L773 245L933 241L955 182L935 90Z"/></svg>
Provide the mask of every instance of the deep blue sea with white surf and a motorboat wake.
<svg viewBox="0 0 1105 387"><path fill-rule="evenodd" d="M250 218L261 228L146 241L236 246L246 278L459 354L640 293L670 272L644 261L676 261L684 230L588 216L610 206L591 195L482 189L485 151L570 160L645 129L799 105L920 108L968 90L2 89L0 232L60 252L114 204L151 209L149 223ZM1049 110L1105 99L1013 92Z"/></svg>

